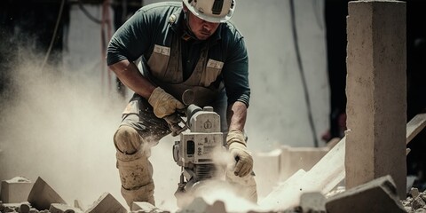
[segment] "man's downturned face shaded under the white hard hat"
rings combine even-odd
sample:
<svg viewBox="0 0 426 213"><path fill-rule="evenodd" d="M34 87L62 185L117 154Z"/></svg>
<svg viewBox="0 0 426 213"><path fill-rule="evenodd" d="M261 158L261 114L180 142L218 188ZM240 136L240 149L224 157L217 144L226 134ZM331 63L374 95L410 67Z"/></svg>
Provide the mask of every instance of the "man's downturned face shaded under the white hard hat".
<svg viewBox="0 0 426 213"><path fill-rule="evenodd" d="M201 20L196 17L192 12L187 12L189 14L188 23L189 27L193 31L193 35L195 35L200 40L206 40L209 36L213 35L219 23L208 22L205 20Z"/></svg>

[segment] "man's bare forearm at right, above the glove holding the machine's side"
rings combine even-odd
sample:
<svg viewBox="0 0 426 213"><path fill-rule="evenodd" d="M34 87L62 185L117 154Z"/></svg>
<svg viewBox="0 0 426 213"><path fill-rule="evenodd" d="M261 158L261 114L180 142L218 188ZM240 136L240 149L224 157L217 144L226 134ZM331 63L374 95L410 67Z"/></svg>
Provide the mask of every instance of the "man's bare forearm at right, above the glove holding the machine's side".
<svg viewBox="0 0 426 213"><path fill-rule="evenodd" d="M241 101L235 101L227 109L228 130L243 130L247 119L247 106Z"/></svg>

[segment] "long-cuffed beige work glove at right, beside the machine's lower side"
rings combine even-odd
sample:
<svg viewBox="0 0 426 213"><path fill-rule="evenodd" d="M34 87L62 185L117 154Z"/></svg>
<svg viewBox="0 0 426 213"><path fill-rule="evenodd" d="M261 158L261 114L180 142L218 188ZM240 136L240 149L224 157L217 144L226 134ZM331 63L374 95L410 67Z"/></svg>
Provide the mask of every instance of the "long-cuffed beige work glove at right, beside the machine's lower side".
<svg viewBox="0 0 426 213"><path fill-rule="evenodd" d="M248 154L246 141L241 130L231 130L226 137L226 146L236 161L233 174L238 177L247 176L253 170L253 158Z"/></svg>

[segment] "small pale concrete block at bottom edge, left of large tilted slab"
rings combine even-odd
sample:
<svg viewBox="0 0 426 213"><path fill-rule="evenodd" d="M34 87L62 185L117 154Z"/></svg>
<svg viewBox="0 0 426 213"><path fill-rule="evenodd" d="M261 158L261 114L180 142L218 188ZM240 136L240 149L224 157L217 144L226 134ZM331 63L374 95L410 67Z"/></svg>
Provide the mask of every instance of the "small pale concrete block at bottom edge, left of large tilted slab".
<svg viewBox="0 0 426 213"><path fill-rule="evenodd" d="M326 213L326 197L322 193L303 193L299 205L303 212Z"/></svg>

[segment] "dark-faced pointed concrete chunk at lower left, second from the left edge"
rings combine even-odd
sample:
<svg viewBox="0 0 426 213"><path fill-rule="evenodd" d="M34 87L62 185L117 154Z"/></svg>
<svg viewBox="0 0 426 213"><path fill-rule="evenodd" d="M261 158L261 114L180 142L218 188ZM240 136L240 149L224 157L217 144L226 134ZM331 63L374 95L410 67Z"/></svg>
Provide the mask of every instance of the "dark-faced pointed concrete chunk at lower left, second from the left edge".
<svg viewBox="0 0 426 213"><path fill-rule="evenodd" d="M33 185L28 195L28 202L31 203L32 207L38 210L49 209L51 203L67 204L66 201L42 179L42 177L38 177L36 183Z"/></svg>

